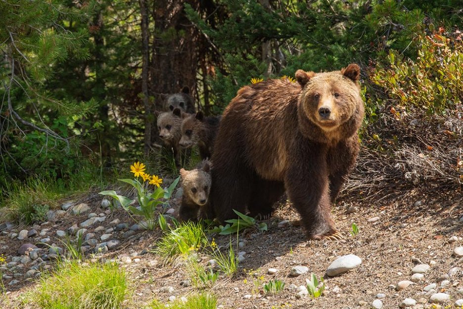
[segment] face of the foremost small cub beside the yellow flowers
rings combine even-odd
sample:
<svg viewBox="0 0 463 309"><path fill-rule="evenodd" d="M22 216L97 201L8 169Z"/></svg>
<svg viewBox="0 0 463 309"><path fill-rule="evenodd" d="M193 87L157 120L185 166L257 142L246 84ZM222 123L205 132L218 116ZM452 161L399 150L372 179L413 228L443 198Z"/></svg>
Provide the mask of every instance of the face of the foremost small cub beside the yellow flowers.
<svg viewBox="0 0 463 309"><path fill-rule="evenodd" d="M211 189L211 175L203 169L187 171L180 170L184 194L199 206L203 206L209 199Z"/></svg>

